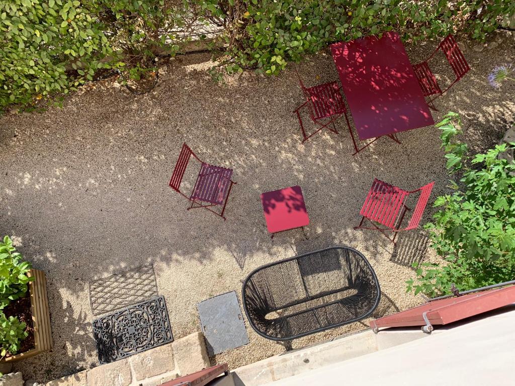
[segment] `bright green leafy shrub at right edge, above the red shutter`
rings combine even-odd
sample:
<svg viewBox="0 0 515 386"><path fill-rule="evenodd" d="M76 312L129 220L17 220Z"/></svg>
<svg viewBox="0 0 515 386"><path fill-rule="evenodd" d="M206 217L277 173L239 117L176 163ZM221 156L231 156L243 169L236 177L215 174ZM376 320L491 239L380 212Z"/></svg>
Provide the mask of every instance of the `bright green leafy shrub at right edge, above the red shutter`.
<svg viewBox="0 0 515 386"><path fill-rule="evenodd" d="M468 156L467 145L455 141L456 118L449 113L437 127L447 168L462 177L459 185L451 181L453 194L436 199L440 210L426 225L444 261L416 267L417 277L406 282L407 291L429 296L451 293L453 284L468 290L515 278L515 163L498 157L506 144Z"/></svg>

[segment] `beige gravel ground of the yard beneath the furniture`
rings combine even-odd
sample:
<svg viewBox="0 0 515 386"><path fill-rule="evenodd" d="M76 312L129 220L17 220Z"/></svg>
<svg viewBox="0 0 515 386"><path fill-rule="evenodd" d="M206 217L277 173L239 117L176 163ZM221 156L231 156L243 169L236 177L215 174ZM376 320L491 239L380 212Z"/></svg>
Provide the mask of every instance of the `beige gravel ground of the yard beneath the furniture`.
<svg viewBox="0 0 515 386"><path fill-rule="evenodd" d="M491 147L515 120L515 86L487 82L491 68L513 62L514 40L477 52L467 44L472 71L437 100L441 112L461 114L474 150ZM436 45L407 45L416 62ZM236 291L256 267L302 252L346 244L362 251L379 277L383 301L375 316L421 302L405 293L410 264L434 258L423 232L402 235L398 248L375 232L354 231L374 177L401 187L436 181L433 198L448 191L448 175L434 127L400 134L352 156L339 135L322 132L301 144L292 111L302 101L295 74L245 74L227 85L205 73L207 55L168 65L158 89L144 96L117 93L112 80L86 86L64 108L0 118L0 234L14 236L33 266L46 272L54 350L15 364L39 381L95 366L88 283L152 263L175 338L199 330L196 304ZM329 52L295 66L307 85L337 79ZM306 120L307 122L307 120ZM232 167L238 183L221 220L168 187L183 142L204 160ZM273 240L260 194L300 185L310 225ZM426 210L424 222L433 209ZM294 343L294 347L362 329L355 323ZM250 343L212 358L231 368L283 352L247 324Z"/></svg>

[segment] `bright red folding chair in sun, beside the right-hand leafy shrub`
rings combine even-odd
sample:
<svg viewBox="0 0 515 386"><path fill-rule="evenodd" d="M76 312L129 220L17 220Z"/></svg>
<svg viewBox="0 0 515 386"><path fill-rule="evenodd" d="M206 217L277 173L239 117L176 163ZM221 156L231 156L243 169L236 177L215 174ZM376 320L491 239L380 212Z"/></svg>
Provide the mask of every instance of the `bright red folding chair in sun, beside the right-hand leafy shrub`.
<svg viewBox="0 0 515 386"><path fill-rule="evenodd" d="M361 208L361 212L359 212L363 217L361 222L359 222L359 225L355 226L354 229L371 229L380 231L388 238L388 240L395 244L395 238L399 232L408 231L418 227L434 184L435 183L432 182L417 190L406 191L398 188L397 186L374 179L372 187L368 192L367 199ZM413 210L413 215L411 215L408 225L401 229L402 220L404 219L406 211L411 210L406 206L408 196L416 192L420 192L420 197L415 205L415 209ZM363 226L363 221L365 219L369 220L373 227ZM376 223L384 225L386 228L380 228ZM393 233L393 238L388 236L386 233L387 231L391 231Z"/></svg>

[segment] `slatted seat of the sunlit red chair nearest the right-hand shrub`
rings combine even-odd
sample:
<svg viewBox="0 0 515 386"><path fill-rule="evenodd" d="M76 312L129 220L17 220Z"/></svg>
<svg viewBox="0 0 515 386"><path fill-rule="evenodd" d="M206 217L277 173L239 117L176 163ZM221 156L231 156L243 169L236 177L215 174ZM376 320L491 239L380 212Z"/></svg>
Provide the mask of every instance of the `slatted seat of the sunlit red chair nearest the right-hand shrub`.
<svg viewBox="0 0 515 386"><path fill-rule="evenodd" d="M374 179L359 214L390 229L396 229L399 215L407 197L408 192L406 190Z"/></svg>

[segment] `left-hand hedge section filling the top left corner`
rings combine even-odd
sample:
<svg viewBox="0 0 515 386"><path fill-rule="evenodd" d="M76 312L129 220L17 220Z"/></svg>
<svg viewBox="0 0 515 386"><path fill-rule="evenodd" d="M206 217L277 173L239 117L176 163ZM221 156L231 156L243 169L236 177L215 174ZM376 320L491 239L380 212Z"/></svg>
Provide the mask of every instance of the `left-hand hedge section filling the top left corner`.
<svg viewBox="0 0 515 386"><path fill-rule="evenodd" d="M183 12L164 0L0 2L0 112L74 90L102 67L173 55Z"/></svg>

